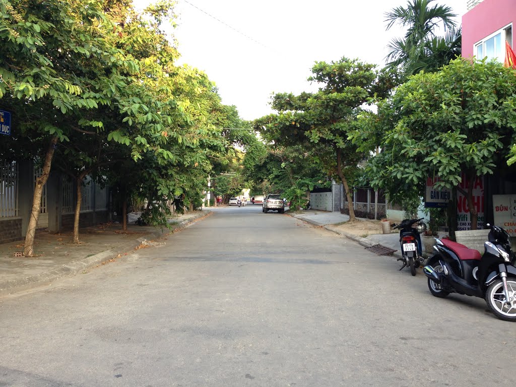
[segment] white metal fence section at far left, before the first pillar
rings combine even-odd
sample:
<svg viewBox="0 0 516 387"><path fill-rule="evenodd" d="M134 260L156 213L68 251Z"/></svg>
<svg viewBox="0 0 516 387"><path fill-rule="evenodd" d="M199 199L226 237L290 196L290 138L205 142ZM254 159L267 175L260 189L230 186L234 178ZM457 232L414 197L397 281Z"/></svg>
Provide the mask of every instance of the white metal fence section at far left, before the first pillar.
<svg viewBox="0 0 516 387"><path fill-rule="evenodd" d="M19 215L18 164L0 160L0 218Z"/></svg>

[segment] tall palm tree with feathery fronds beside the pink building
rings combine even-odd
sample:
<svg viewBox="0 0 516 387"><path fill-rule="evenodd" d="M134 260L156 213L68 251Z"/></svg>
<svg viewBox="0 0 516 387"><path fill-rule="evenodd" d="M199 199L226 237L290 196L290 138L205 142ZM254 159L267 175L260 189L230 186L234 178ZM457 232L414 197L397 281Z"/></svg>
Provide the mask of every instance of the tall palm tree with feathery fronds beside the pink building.
<svg viewBox="0 0 516 387"><path fill-rule="evenodd" d="M457 15L450 7L432 5L436 0L408 0L406 7L385 13L387 30L394 24L407 27L404 38L395 38L388 45L385 57L388 68L401 67L405 75L434 71L460 55L461 28L455 28ZM436 35L443 26L444 37Z"/></svg>

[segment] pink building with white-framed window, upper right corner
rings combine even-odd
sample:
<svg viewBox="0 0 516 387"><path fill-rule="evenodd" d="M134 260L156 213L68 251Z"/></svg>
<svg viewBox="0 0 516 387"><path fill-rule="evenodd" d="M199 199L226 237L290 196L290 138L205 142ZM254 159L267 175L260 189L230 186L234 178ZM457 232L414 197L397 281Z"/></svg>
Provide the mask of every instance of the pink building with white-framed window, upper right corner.
<svg viewBox="0 0 516 387"><path fill-rule="evenodd" d="M462 17L462 56L504 62L505 41L512 45L516 0L468 0Z"/></svg>

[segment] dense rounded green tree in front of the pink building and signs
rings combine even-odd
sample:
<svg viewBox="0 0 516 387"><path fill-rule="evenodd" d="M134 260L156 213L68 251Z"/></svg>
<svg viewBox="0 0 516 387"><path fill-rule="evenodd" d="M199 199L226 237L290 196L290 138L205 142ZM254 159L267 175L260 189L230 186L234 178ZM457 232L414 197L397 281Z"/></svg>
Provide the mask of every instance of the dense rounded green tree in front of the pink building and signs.
<svg viewBox="0 0 516 387"><path fill-rule="evenodd" d="M410 77L379 104L377 115L361 117L351 138L362 151L382 149L366 167L375 188L401 198L411 187L422 187L427 176L437 176L436 188L453 188L467 198L476 229L473 183L507 161L515 107L512 70L456 59L439 72ZM466 189L460 187L462 172L470 182Z"/></svg>

